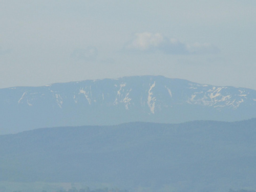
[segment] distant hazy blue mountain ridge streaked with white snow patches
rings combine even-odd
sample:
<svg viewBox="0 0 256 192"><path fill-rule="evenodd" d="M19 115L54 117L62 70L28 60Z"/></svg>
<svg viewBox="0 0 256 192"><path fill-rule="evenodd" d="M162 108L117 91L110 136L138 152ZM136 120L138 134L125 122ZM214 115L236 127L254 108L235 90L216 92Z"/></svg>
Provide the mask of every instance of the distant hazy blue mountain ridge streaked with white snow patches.
<svg viewBox="0 0 256 192"><path fill-rule="evenodd" d="M0 134L38 127L256 117L256 91L163 76L0 89Z"/></svg>

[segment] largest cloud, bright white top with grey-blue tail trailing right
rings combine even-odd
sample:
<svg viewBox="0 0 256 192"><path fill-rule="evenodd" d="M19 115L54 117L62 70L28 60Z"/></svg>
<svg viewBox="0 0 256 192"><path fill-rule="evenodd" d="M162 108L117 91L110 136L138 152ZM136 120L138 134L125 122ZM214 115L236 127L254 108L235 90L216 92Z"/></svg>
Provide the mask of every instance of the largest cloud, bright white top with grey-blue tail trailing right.
<svg viewBox="0 0 256 192"><path fill-rule="evenodd" d="M168 38L161 33L136 33L127 43L125 50L135 52L162 52L165 54L215 54L219 49L211 44L186 44L176 38Z"/></svg>

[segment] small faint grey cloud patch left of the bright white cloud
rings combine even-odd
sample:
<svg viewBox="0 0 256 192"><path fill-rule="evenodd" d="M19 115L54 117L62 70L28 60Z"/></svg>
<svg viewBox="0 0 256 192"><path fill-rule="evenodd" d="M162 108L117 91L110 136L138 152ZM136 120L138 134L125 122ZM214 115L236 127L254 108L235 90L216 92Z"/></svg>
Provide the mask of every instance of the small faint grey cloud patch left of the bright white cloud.
<svg viewBox="0 0 256 192"><path fill-rule="evenodd" d="M98 56L98 49L96 47L87 47L84 49L75 49L71 57L77 60L93 61Z"/></svg>

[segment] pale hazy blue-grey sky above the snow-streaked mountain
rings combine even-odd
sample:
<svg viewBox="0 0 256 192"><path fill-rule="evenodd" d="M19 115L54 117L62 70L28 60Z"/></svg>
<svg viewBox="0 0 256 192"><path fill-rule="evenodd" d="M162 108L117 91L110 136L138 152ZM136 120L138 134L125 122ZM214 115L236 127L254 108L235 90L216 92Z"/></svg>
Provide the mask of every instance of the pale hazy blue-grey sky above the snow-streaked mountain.
<svg viewBox="0 0 256 192"><path fill-rule="evenodd" d="M0 88L163 75L256 90L255 0L0 0Z"/></svg>

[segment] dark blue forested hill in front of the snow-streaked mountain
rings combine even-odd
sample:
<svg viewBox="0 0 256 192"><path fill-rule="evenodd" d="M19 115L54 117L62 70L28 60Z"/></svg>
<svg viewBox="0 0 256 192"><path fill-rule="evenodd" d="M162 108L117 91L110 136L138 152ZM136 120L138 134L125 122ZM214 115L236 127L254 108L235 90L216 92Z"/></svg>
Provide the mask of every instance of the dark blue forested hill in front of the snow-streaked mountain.
<svg viewBox="0 0 256 192"><path fill-rule="evenodd" d="M0 181L256 188L255 138L256 119L37 129L0 136Z"/></svg>

